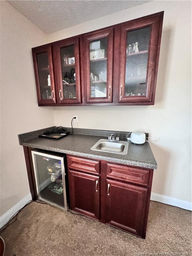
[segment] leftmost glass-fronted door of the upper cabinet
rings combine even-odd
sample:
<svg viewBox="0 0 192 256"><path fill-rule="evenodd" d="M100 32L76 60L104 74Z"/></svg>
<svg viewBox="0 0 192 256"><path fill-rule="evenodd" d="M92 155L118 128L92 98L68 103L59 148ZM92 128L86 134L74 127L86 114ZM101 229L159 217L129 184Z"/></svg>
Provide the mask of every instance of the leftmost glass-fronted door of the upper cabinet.
<svg viewBox="0 0 192 256"><path fill-rule="evenodd" d="M32 49L39 105L55 104L51 45Z"/></svg>

